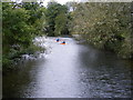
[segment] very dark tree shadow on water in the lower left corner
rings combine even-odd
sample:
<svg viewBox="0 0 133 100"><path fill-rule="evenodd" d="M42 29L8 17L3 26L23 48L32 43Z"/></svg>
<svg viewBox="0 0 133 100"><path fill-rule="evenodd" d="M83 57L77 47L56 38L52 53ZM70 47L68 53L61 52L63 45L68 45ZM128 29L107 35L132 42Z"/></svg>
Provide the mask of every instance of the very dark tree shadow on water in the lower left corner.
<svg viewBox="0 0 133 100"><path fill-rule="evenodd" d="M2 80L2 93L4 97L21 97L20 90L22 90L25 86L29 84L30 81L32 81L32 78L30 78L30 70L32 69L32 66L34 64L34 61L22 61L17 67L19 67L19 70L9 72L3 74Z"/></svg>

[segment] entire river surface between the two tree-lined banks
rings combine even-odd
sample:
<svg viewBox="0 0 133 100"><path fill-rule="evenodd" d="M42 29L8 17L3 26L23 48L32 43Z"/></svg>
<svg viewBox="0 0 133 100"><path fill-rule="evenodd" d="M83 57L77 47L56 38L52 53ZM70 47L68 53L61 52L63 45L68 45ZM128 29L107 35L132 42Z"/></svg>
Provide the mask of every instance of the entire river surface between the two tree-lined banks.
<svg viewBox="0 0 133 100"><path fill-rule="evenodd" d="M37 38L44 53L25 56L3 76L3 98L131 98L131 61L72 38Z"/></svg>

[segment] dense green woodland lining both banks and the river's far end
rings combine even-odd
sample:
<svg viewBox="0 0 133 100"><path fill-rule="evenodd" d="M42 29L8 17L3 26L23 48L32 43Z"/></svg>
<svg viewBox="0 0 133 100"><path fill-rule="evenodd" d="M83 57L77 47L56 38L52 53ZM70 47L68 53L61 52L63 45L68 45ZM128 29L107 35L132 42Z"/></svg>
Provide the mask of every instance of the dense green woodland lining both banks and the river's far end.
<svg viewBox="0 0 133 100"><path fill-rule="evenodd" d="M3 2L3 66L8 67L23 53L40 50L32 40L43 34L80 34L81 39L99 49L132 59L131 17L130 2L68 2L62 6L52 1L48 7L37 2Z"/></svg>

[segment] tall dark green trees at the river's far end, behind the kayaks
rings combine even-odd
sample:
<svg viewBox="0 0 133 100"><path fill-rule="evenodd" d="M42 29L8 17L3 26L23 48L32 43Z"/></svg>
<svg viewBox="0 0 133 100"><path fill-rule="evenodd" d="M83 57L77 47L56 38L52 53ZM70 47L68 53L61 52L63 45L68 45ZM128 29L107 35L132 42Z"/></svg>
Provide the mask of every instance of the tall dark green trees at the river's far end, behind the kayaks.
<svg viewBox="0 0 133 100"><path fill-rule="evenodd" d="M48 36L68 33L68 8L65 6L49 2L45 17Z"/></svg>

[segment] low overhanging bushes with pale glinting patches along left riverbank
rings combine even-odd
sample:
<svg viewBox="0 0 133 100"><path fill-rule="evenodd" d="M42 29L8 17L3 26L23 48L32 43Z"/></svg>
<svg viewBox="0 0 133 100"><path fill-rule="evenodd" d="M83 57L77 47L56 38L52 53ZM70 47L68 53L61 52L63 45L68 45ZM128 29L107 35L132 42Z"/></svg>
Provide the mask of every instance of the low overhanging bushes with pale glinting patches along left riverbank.
<svg viewBox="0 0 133 100"><path fill-rule="evenodd" d="M17 70L18 62L24 58L24 59L33 59L37 58L39 53L43 53L45 51L47 47L42 47L42 40L40 41L38 39L39 37L34 38L32 40L32 43L28 48L21 48L21 47L13 47L10 49L10 52L2 56L2 71L12 71ZM45 36L42 36L43 42L45 40ZM39 40L39 41L38 41Z"/></svg>

